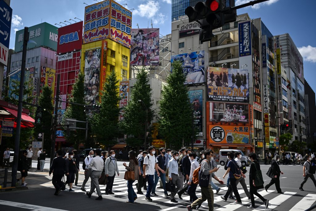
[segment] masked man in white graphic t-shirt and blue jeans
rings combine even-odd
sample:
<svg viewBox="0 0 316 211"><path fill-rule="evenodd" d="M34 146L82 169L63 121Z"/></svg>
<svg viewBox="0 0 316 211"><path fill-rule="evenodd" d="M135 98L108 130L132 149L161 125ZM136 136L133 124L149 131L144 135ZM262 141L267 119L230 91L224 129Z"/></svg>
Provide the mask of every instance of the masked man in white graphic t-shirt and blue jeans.
<svg viewBox="0 0 316 211"><path fill-rule="evenodd" d="M153 186L154 186L154 175L155 170L158 174L158 177L160 177L158 168L156 163L158 163L157 158L155 157L155 146L149 146L148 147L149 155L145 156L144 158L144 165L143 165L143 177L147 178L148 186L147 186L147 193L145 196L145 199L149 202L152 202L153 200L150 198L150 193L152 192Z"/></svg>

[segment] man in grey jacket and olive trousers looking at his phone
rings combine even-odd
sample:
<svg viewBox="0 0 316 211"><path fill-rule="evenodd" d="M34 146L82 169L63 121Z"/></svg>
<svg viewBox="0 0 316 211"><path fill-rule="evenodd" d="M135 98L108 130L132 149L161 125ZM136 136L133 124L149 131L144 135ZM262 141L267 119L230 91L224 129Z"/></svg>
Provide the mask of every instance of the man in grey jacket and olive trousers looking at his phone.
<svg viewBox="0 0 316 211"><path fill-rule="evenodd" d="M205 156L205 160L203 160L201 163L201 171L203 172L203 174L204 175L211 175L219 183L224 184L224 181L218 179L214 174L214 172L218 171L218 168L215 167L213 170L211 170L210 161L211 161L211 158L213 157L213 151L211 149L205 150L204 156ZM195 200L191 205L188 205L187 206L188 211L195 209L198 205L202 204L202 202L204 202L206 199L207 199L207 202L209 205L209 211L214 210L214 206L213 206L214 194L213 194L213 190L212 190L212 186L211 186L212 177L210 177L208 187L201 186L202 197Z"/></svg>

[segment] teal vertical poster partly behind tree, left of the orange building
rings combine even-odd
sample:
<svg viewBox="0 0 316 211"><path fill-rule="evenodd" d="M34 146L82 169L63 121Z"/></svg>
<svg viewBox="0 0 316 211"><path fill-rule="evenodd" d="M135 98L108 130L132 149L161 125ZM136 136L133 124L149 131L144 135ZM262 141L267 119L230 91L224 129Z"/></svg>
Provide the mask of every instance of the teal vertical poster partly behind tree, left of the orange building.
<svg viewBox="0 0 316 211"><path fill-rule="evenodd" d="M193 125L198 130L197 135L203 136L203 90L188 91L193 108Z"/></svg>

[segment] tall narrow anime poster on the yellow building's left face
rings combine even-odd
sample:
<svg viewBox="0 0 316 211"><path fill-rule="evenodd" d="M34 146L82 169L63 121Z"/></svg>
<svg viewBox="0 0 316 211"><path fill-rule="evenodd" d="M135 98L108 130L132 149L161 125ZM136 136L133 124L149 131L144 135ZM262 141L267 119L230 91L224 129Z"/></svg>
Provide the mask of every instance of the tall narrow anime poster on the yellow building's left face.
<svg viewBox="0 0 316 211"><path fill-rule="evenodd" d="M89 49L85 53L84 99L88 104L97 104L100 87L101 48Z"/></svg>

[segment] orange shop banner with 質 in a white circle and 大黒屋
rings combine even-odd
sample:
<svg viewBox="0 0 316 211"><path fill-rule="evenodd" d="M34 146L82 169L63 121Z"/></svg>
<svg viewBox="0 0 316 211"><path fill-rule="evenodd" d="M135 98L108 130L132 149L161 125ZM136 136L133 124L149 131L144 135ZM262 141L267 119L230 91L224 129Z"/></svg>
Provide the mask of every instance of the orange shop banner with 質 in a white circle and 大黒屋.
<svg viewBox="0 0 316 211"><path fill-rule="evenodd" d="M249 126L210 125L210 143L249 144Z"/></svg>

